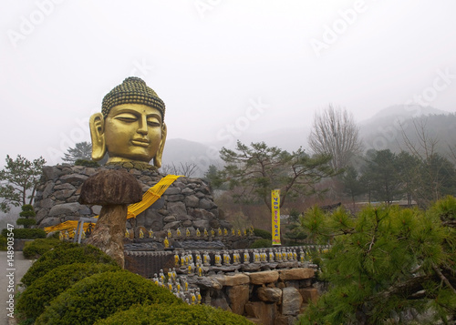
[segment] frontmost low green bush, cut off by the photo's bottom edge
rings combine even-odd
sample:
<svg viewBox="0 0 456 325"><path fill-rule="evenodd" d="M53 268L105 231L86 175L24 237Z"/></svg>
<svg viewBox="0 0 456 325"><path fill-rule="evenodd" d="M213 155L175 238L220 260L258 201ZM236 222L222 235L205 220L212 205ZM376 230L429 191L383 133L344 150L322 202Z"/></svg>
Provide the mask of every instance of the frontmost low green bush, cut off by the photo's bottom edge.
<svg viewBox="0 0 456 325"><path fill-rule="evenodd" d="M206 305L136 305L130 310L118 311L95 325L243 325L252 324L243 316Z"/></svg>

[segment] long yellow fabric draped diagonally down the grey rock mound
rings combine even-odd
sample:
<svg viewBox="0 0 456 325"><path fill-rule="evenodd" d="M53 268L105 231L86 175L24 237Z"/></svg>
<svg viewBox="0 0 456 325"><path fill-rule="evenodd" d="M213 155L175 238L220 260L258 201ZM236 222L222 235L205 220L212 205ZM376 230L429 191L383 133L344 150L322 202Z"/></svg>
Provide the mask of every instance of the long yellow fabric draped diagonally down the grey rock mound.
<svg viewBox="0 0 456 325"><path fill-rule="evenodd" d="M157 201L157 199L161 198L166 189L169 188L170 185L180 177L181 175L167 175L164 178L161 178L160 182L149 188L146 193L143 194L142 200L140 202L130 204L127 212L127 218L136 218L136 216L138 216L141 212L149 208L152 204L155 203L155 201ZM98 216L95 216L94 218L98 218ZM46 227L45 231L47 233L51 231L65 231L69 229L75 229L77 226L78 220L68 220L56 226ZM84 231L86 231L87 228L88 222L84 223Z"/></svg>

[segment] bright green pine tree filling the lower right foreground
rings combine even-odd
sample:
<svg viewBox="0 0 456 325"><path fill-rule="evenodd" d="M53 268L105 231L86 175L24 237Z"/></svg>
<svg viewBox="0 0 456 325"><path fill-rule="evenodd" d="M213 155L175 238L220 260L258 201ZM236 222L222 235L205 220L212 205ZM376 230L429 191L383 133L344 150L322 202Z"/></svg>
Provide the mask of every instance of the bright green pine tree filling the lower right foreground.
<svg viewBox="0 0 456 325"><path fill-rule="evenodd" d="M456 320L456 199L429 210L397 206L306 212L302 227L332 248L330 289L300 324L452 324ZM412 322L415 321L415 322Z"/></svg>

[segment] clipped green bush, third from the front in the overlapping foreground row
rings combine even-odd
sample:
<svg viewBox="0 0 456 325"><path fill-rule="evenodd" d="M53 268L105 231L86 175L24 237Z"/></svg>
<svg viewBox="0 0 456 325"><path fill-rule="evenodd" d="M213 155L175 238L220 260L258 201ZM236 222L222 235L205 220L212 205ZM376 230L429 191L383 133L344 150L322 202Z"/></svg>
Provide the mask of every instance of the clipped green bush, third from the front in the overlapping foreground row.
<svg viewBox="0 0 456 325"><path fill-rule="evenodd" d="M62 265L36 279L17 300L17 310L26 319L35 320L45 307L80 279L97 273L120 270L119 266L99 263L74 263Z"/></svg>

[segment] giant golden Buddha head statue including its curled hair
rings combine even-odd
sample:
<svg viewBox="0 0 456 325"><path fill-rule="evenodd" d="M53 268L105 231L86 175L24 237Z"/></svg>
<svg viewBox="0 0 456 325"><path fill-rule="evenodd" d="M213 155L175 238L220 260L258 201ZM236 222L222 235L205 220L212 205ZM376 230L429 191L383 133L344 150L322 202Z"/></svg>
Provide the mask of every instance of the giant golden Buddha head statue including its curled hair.
<svg viewBox="0 0 456 325"><path fill-rule="evenodd" d="M90 117L92 159L106 153L107 164L126 162L161 167L166 140L165 104L139 77L130 76L103 98L101 113Z"/></svg>

